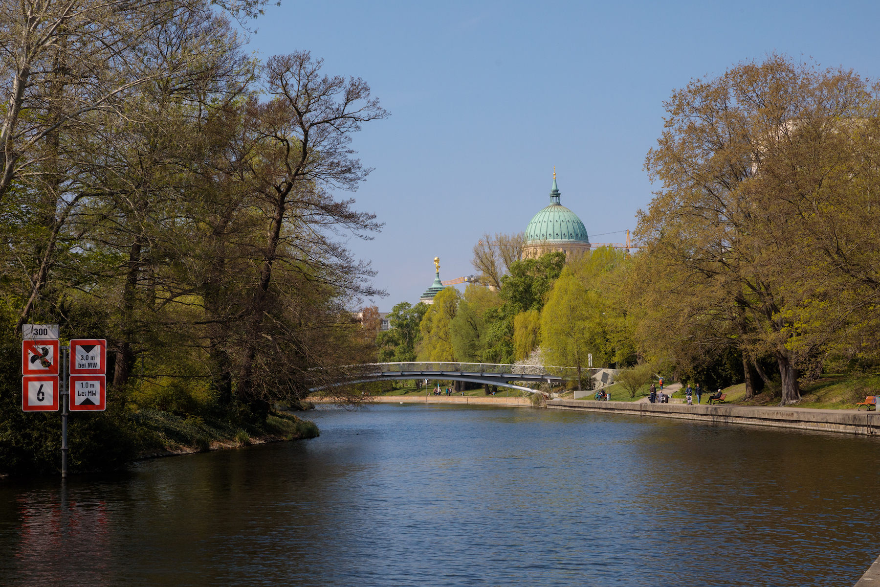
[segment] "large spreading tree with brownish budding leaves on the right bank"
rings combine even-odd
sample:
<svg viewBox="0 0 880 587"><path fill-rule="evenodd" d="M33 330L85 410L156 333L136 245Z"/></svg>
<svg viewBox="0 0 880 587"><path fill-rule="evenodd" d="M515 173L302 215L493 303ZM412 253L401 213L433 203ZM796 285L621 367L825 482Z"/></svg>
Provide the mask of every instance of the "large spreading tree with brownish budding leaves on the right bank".
<svg viewBox="0 0 880 587"><path fill-rule="evenodd" d="M840 203L857 201L846 187L862 196L851 210L876 202L870 195L876 192L858 187L859 172L868 169L847 154L853 152L848 137L862 127L857 121L875 118L876 105L876 88L851 70L770 55L673 92L664 104L663 135L646 158L651 179L662 187L639 217L640 254L659 275L676 278L659 282L646 273L642 285L666 290L657 303L667 305L668 314L681 315L673 306L686 309L693 328L677 329L680 346L718 333L743 356L774 356L783 405L800 399L802 369L847 322L846 309L832 301L826 319L812 314L822 326L808 329L820 335L798 343L806 321L796 319L796 308L821 283L808 285L804 274L842 275L834 264L840 267L846 251L864 244L856 245L852 233L841 238L822 228L838 224ZM808 251L818 244L809 237L814 230L823 241L817 252L825 249L818 256ZM828 300L846 302L847 295Z"/></svg>

